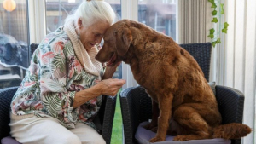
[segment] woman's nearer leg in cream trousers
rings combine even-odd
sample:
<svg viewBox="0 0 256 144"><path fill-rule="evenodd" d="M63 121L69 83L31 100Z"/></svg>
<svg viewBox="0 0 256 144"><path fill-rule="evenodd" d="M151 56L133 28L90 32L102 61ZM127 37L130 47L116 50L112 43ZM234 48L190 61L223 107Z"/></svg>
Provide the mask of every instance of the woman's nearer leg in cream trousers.
<svg viewBox="0 0 256 144"><path fill-rule="evenodd" d="M55 118L11 120L11 135L23 144L81 144L79 137Z"/></svg>

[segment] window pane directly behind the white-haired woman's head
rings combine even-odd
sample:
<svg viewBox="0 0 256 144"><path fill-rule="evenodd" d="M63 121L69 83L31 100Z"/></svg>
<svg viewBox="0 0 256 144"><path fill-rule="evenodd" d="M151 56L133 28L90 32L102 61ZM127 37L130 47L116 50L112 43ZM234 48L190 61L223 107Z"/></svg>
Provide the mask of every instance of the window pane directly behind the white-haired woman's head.
<svg viewBox="0 0 256 144"><path fill-rule="evenodd" d="M47 34L54 32L56 28L64 25L64 21L68 14L78 8L83 0L46 0L46 26ZM109 3L116 12L117 20L121 20L121 3L120 0L105 0ZM102 41L101 44L104 42ZM113 78L122 78L121 66L114 73Z"/></svg>

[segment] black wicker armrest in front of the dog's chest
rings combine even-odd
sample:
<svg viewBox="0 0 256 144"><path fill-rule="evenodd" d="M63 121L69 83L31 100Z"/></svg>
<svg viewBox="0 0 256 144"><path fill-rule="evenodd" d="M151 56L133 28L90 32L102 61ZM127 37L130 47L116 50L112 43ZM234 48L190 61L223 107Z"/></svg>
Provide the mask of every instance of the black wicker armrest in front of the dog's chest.
<svg viewBox="0 0 256 144"><path fill-rule="evenodd" d="M137 126L151 119L151 103L151 98L141 86L124 89L120 93L125 144L137 143L134 138Z"/></svg>

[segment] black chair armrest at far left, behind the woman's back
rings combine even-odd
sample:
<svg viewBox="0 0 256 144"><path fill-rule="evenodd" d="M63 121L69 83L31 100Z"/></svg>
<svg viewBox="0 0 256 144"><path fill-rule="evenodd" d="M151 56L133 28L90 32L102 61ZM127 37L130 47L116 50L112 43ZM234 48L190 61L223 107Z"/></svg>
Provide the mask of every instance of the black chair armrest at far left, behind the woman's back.
<svg viewBox="0 0 256 144"><path fill-rule="evenodd" d="M10 103L18 87L0 89L0 140L9 135Z"/></svg>

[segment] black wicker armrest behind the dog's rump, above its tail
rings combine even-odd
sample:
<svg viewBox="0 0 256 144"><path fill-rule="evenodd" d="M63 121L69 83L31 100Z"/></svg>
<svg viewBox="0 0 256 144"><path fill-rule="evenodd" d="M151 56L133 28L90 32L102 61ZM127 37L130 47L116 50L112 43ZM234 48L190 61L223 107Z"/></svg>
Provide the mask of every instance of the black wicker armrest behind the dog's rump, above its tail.
<svg viewBox="0 0 256 144"><path fill-rule="evenodd" d="M242 123L244 95L241 91L220 85L215 89L222 124ZM241 139L231 140L231 144L241 144Z"/></svg>

